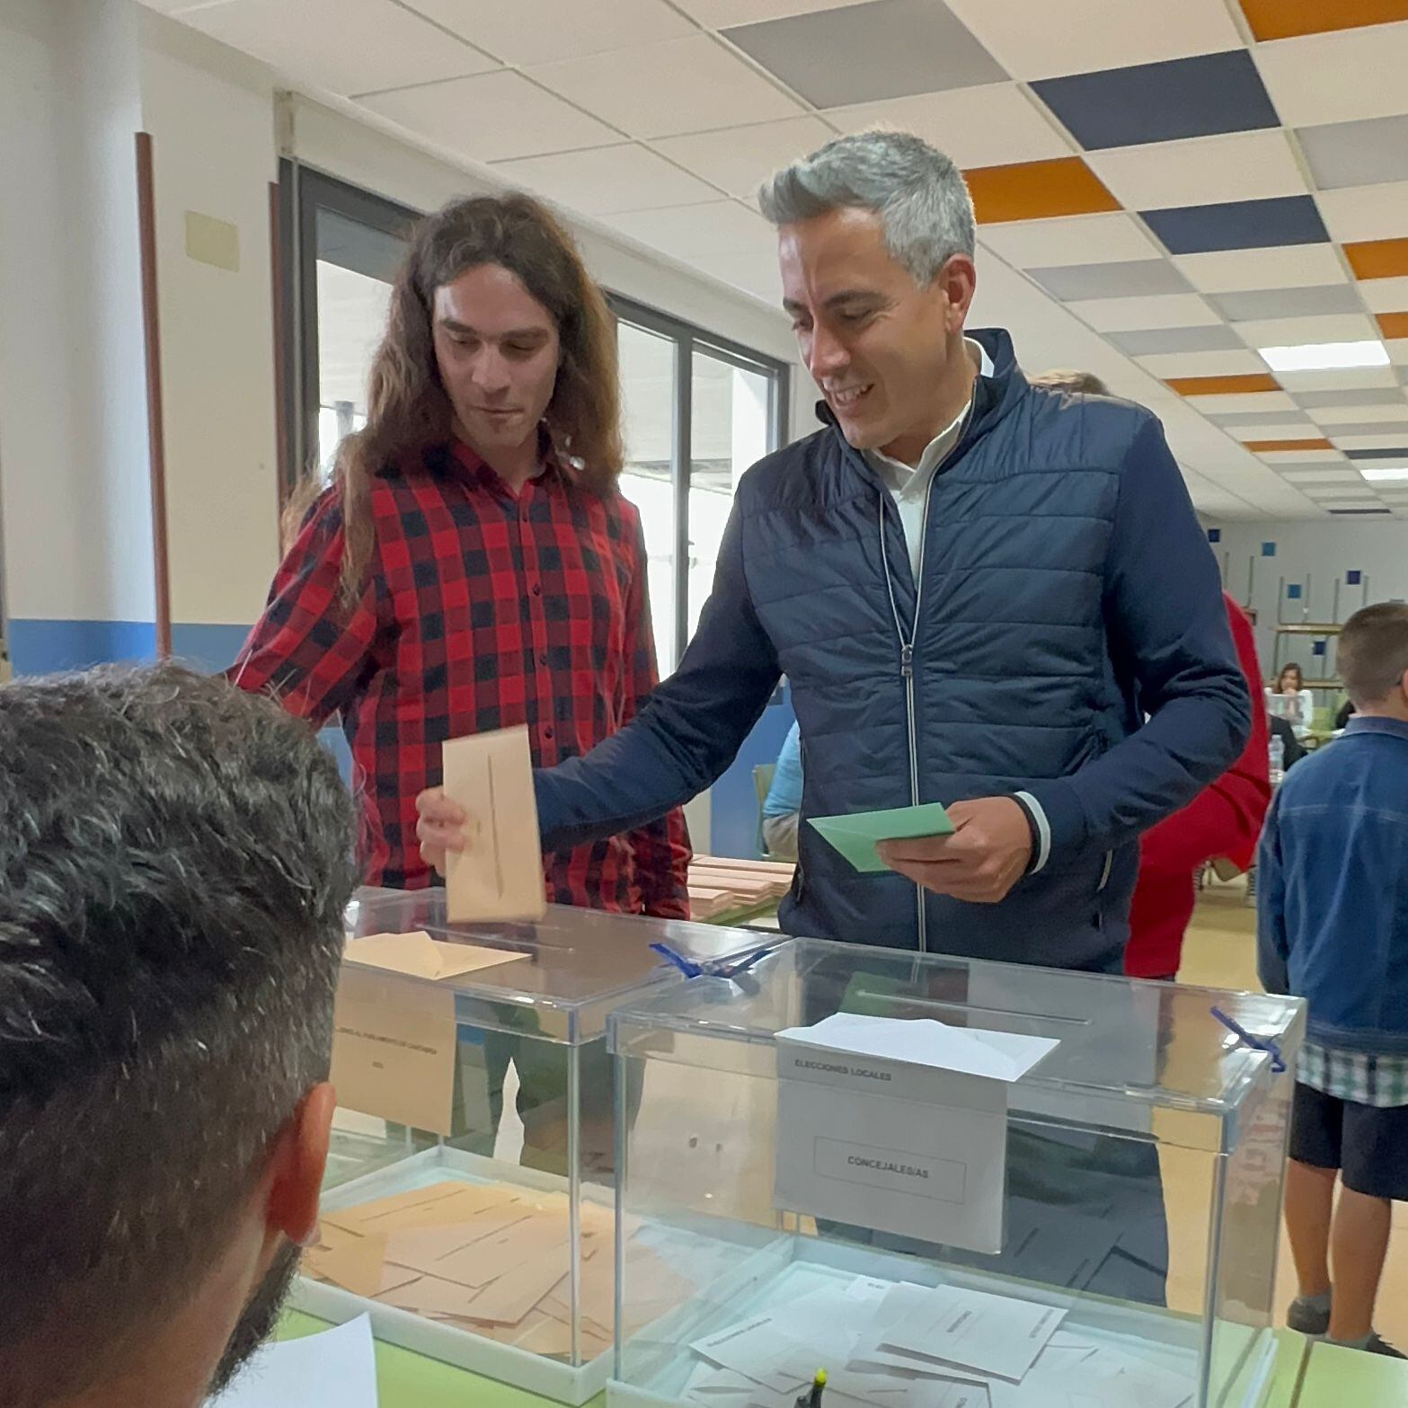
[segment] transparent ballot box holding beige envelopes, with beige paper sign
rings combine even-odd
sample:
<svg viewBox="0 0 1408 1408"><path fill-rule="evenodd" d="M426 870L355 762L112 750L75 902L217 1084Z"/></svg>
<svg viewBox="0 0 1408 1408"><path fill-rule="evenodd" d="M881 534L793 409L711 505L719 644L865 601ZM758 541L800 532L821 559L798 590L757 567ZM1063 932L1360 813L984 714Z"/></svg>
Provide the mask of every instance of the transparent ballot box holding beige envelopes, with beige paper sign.
<svg viewBox="0 0 1408 1408"><path fill-rule="evenodd" d="M370 1312L382 1339L582 1404L614 1335L607 1012L766 939L562 907L451 926L442 890L359 891L346 924L321 1240L296 1304ZM697 1288L670 1278L681 1302Z"/></svg>

